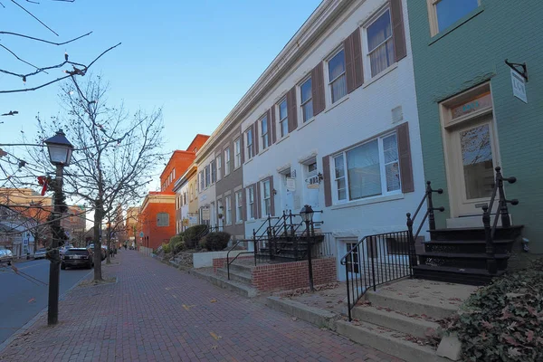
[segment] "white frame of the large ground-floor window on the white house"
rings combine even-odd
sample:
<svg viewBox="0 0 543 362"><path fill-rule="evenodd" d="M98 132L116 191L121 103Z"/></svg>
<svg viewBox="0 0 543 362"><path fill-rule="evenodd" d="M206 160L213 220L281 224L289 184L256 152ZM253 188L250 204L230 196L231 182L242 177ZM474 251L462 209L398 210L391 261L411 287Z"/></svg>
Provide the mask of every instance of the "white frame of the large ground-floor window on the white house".
<svg viewBox="0 0 543 362"><path fill-rule="evenodd" d="M386 165L388 164L391 164L393 162L389 162L388 164L385 164L385 153L384 153L384 148L383 148L383 139L384 138L388 138L390 136L395 136L396 138L396 149L397 149L397 142L398 142L398 136L397 136L397 133L394 131L394 132L387 132L386 134L383 134L381 136L378 136L376 138L372 138L372 139L368 139L367 141L363 142L363 143L358 143L357 145L354 145L350 148L347 148L347 149L344 149L343 151L341 152L338 152L337 154L333 154L330 156L330 177L332 180L334 180L334 183L332 185L332 200L333 200L333 203L334 204L347 204L347 203L355 203L357 201L360 201L360 200L370 200L372 198L376 198L376 197L383 197L383 196L387 196L387 195L398 195L398 194L402 194L402 175L401 175L401 170L399 168L399 164L400 164L400 160L399 160L399 149L397 149L397 152L398 152L398 155L397 155L397 162L398 163L398 176L399 176L399 184L398 184L398 189L397 190L393 190L393 191L386 191ZM355 149L355 148L358 148L360 146L363 146L363 145L366 145L367 143L370 143L370 142L374 142L375 140L377 140L377 148L378 148L378 152L379 152L379 171L380 171L380 176L381 176L381 194L379 195L371 195L371 196L366 196L366 197L361 197L361 198L357 198L357 199L354 199L354 200L351 200L350 199L350 195L349 195L349 184L348 184L348 165L347 165L347 152L352 150L352 149ZM336 182L337 181L337 178L336 178L336 163L335 163L335 157L338 157L340 155L343 155L343 169L345 170L345 195L346 195L346 198L345 200L339 200L338 199L338 183Z"/></svg>

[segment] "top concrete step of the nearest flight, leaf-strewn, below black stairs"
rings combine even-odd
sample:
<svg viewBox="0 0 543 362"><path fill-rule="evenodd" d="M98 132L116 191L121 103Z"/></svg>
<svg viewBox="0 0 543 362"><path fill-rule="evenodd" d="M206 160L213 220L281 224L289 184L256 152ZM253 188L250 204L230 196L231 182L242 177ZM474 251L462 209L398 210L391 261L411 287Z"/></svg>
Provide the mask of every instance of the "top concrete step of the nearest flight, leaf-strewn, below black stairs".
<svg viewBox="0 0 543 362"><path fill-rule="evenodd" d="M373 306L388 308L407 313L409 315L426 315L433 319L444 319L458 310L458 306L445 304L437 300L411 300L408 295L378 289L367 291L365 299L371 301Z"/></svg>

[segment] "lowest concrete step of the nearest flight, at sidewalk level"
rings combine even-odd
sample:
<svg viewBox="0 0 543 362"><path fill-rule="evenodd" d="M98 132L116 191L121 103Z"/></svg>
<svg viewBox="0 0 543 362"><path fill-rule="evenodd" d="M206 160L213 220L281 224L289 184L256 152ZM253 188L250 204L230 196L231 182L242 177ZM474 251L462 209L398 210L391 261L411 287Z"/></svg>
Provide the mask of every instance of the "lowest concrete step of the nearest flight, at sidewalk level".
<svg viewBox="0 0 543 362"><path fill-rule="evenodd" d="M376 348L407 362L451 362L450 359L437 356L432 347L420 346L407 340L409 335L405 333L372 323L337 320L336 331L354 342Z"/></svg>

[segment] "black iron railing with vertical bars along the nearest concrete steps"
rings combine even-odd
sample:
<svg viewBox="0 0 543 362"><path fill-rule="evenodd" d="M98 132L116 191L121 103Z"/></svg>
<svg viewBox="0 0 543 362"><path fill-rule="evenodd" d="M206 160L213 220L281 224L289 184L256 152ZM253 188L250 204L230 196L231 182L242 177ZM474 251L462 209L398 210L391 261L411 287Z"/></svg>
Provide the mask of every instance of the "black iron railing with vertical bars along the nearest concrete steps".
<svg viewBox="0 0 543 362"><path fill-rule="evenodd" d="M412 276L409 232L368 235L341 258L345 266L348 319L366 291L389 281Z"/></svg>

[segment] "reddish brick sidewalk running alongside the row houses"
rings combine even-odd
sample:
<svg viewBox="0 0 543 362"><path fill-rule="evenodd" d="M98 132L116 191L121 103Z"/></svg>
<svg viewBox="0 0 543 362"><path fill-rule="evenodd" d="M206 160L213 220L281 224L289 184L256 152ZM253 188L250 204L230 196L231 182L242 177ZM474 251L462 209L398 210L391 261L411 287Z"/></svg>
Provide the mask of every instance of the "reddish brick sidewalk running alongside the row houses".
<svg viewBox="0 0 543 362"><path fill-rule="evenodd" d="M113 262L118 283L75 288L58 326L43 315L0 360L400 361L138 252Z"/></svg>

